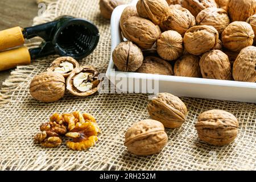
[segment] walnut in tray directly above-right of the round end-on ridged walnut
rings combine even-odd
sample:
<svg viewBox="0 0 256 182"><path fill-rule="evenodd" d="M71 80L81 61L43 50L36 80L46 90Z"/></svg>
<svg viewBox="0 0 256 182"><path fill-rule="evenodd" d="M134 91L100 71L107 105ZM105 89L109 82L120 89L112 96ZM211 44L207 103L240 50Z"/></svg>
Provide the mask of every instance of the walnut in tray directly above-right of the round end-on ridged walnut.
<svg viewBox="0 0 256 182"><path fill-rule="evenodd" d="M190 27L196 26L195 17L187 9L172 6L170 10L168 19L160 24L163 31L174 30L184 36Z"/></svg>

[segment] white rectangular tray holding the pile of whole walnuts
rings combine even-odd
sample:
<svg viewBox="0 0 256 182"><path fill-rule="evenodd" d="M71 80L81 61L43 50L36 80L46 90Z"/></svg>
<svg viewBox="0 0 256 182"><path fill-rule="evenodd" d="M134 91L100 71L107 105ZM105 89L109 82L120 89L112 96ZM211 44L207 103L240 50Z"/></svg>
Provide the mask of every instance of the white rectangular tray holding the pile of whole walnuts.
<svg viewBox="0 0 256 182"><path fill-rule="evenodd" d="M131 4L135 5L136 2L137 0L133 1ZM123 41L119 28L119 20L126 6L129 5L118 6L112 14L112 51ZM119 72L117 70L113 72L113 69L115 69L115 67L112 57L110 57L106 77L108 77L118 89L125 93L169 92L176 96L256 103L256 83L253 82L128 73ZM129 84L125 85L124 83L126 83L127 80L137 82L129 82ZM158 81L156 83L159 84L159 89L146 89L148 84L151 84L151 81L154 80ZM155 86L158 87L158 84ZM149 87L151 88L150 85Z"/></svg>

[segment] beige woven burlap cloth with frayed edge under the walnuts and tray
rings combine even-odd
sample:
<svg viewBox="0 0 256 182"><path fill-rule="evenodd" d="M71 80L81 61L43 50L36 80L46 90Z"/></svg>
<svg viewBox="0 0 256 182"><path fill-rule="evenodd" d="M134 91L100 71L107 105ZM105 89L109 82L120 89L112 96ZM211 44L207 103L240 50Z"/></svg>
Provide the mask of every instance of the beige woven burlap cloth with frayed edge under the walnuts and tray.
<svg viewBox="0 0 256 182"><path fill-rule="evenodd" d="M110 57L110 21L101 18L98 0L47 0L48 9L34 19L44 23L60 15L91 20L100 29L101 39L92 55L81 64L94 65L105 72ZM226 170L256 169L256 123L254 104L181 98L188 107L187 121L175 130L166 130L168 144L160 154L138 157L123 145L125 131L134 122L148 118L147 94L95 94L44 104L31 98L28 87L56 56L20 66L11 73L1 90L0 169L2 170ZM232 94L232 93L230 93ZM245 93L246 94L246 93ZM195 123L202 111L224 109L240 121L239 134L229 146L215 147L200 142ZM58 148L42 148L33 143L39 125L55 112L74 110L92 113L102 129L96 146L72 151L65 142Z"/></svg>

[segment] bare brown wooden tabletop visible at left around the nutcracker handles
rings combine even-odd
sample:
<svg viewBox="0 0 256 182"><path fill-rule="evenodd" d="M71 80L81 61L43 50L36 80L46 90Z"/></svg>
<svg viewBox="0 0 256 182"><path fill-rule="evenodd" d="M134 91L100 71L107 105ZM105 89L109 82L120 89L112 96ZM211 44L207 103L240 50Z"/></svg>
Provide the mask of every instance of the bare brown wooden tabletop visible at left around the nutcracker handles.
<svg viewBox="0 0 256 182"><path fill-rule="evenodd" d="M38 14L36 0L1 0L0 1L0 30L15 26L28 27ZM10 71L0 72L0 88L2 82L10 75Z"/></svg>

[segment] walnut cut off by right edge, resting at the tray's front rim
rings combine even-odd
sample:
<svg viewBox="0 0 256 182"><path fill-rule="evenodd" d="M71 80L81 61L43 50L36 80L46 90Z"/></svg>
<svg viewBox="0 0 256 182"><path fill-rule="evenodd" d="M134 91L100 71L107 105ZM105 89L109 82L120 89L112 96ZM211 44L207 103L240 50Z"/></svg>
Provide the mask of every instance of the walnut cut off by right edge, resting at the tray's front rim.
<svg viewBox="0 0 256 182"><path fill-rule="evenodd" d="M236 81L256 82L256 47L243 48L233 66Z"/></svg>

